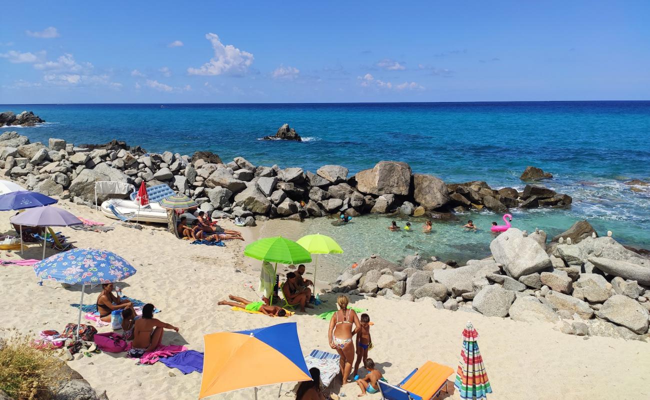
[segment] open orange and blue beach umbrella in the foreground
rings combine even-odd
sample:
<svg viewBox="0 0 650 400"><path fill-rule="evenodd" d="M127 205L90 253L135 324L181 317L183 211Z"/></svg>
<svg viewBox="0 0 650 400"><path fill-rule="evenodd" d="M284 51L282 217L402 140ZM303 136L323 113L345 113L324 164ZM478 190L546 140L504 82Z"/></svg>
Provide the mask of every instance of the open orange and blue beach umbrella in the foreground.
<svg viewBox="0 0 650 400"><path fill-rule="evenodd" d="M296 323L203 336L199 399L218 393L311 380Z"/></svg>

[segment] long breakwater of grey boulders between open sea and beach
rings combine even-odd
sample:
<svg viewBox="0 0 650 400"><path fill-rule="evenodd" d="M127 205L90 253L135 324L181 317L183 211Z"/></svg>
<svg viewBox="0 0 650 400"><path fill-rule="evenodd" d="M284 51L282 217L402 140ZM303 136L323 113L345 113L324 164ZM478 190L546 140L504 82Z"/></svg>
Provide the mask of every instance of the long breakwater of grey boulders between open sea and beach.
<svg viewBox="0 0 650 400"><path fill-rule="evenodd" d="M288 129L288 127L287 127ZM324 165L313 173L278 165L255 166L243 157L223 163L211 152L191 157L179 153L146 153L113 140L107 144L74 146L62 139L49 139L47 146L31 143L16 132L0 135L0 174L10 176L27 189L70 198L77 203L94 202L94 182L120 181L148 187L166 183L198 202L200 209L216 218L302 220L346 213L402 213L454 219L453 207L483 206L507 211L509 206L542 206L571 198L539 186L489 189L474 181L446 185L427 174L414 174L408 164L380 161L373 168L348 176L348 168ZM101 202L105 196L99 196ZM521 199L521 200L517 200ZM551 202L547 201L552 199ZM532 201L534 200L534 202ZM462 206L458 206L461 204Z"/></svg>

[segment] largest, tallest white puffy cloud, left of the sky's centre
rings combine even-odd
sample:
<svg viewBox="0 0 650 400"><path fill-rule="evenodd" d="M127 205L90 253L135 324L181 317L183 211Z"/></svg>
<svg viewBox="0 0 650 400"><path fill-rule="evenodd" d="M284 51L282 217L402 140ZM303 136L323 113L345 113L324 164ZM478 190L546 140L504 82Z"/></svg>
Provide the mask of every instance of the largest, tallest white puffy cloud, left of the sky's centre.
<svg viewBox="0 0 650 400"><path fill-rule="evenodd" d="M242 51L231 44L224 46L214 33L205 34L205 38L212 43L214 57L201 68L187 68L190 75L243 75L253 64L254 57L248 51Z"/></svg>

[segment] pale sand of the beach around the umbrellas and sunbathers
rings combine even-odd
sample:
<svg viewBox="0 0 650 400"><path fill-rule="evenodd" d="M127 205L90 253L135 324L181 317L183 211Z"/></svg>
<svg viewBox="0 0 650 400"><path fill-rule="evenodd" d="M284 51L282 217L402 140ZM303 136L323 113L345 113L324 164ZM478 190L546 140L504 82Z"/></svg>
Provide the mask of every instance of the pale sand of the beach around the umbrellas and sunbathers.
<svg viewBox="0 0 650 400"><path fill-rule="evenodd" d="M62 207L86 219L110 224L113 220L98 211L70 202ZM0 213L3 232L10 230L8 219L13 211ZM308 223L308 222L307 222ZM231 222L226 223L232 227ZM203 334L243 330L279 322L298 323L298 334L305 354L311 349L331 351L327 343L328 321L312 315L294 315L287 319L270 319L262 315L233 312L216 306L229 293L246 299L259 297L255 271L259 263L243 256L246 243L256 239L259 228L242 228L246 243L229 241L226 247L190 245L166 232L163 226L148 225L142 231L116 225L107 233L60 229L77 241L77 247L103 248L116 252L131 262L138 272L125 280L123 292L131 297L153 302L162 310L156 317L177 325L180 331L166 331L164 343L183 344L203 351ZM266 232L268 233L268 232ZM25 258L40 258L41 248L31 245ZM2 251L0 258L9 258ZM48 249L48 254L52 254ZM359 258L366 256L359 254ZM15 257L15 256L14 256ZM237 273L235 269L242 272ZM310 271L309 267L307 271ZM38 286L31 267L0 266L0 327L16 327L22 332L44 329L62 330L76 322L76 310L68 304L79 301L77 287L64 289L45 282ZM99 288L86 295L94 302ZM322 295L329 301L311 313L333 308L335 295ZM650 373L648 343L611 338L585 338L562 334L547 323L523 323L476 313L437 310L426 302L352 297L352 305L367 309L374 326L371 329L374 349L372 358L389 382L399 382L426 360L456 369L460 359L461 332L468 319L478 330L493 395L489 399L640 399L650 397L645 377ZM108 327L100 328L107 332ZM122 399L197 399L201 375L182 375L163 364L136 366L116 354L97 354L69 363L90 384L110 400ZM272 364L269 365L272 367ZM174 377L169 372L175 373ZM255 371L242 371L254 375ZM450 379L454 379L452 375ZM286 386L285 386L286 387ZM335 392L356 397L356 384ZM275 399L278 385L266 386L260 399ZM214 399L251 399L251 389L214 396ZM285 397L282 398L291 398ZM367 399L379 399L369 395ZM450 396L459 399L458 393Z"/></svg>

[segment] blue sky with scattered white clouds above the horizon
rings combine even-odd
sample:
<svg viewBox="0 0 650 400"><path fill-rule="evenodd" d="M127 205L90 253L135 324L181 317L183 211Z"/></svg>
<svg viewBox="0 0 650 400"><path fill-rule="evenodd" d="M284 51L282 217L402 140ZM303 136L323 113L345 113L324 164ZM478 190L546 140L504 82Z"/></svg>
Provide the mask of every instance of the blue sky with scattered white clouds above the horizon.
<svg viewBox="0 0 650 400"><path fill-rule="evenodd" d="M16 8L0 103L650 100L648 1Z"/></svg>

